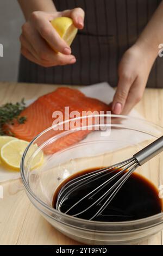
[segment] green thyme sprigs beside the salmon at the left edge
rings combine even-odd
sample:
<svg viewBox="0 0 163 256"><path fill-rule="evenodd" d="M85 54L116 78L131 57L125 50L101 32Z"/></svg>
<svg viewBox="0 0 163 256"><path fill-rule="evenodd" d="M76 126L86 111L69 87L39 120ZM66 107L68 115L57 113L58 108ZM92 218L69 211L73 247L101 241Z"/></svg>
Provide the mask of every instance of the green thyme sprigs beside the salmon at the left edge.
<svg viewBox="0 0 163 256"><path fill-rule="evenodd" d="M21 102L7 103L0 107L0 135L5 135L7 130L4 129L4 124L14 124L14 119L18 123L24 124L26 117L19 117L20 113L26 108L24 99ZM12 134L10 134L12 136Z"/></svg>

